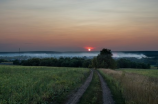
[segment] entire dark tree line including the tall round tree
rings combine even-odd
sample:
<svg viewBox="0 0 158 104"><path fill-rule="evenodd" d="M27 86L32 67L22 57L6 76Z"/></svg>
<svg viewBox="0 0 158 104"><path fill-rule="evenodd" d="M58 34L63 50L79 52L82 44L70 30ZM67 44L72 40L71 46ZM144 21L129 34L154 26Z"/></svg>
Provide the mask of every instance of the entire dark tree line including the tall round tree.
<svg viewBox="0 0 158 104"><path fill-rule="evenodd" d="M14 60L14 65L24 66L54 66L54 67L85 67L85 68L140 68L150 69L150 64L131 61L125 58L114 60L109 49L102 49L93 59L86 57L60 57L60 58L32 58L28 60Z"/></svg>

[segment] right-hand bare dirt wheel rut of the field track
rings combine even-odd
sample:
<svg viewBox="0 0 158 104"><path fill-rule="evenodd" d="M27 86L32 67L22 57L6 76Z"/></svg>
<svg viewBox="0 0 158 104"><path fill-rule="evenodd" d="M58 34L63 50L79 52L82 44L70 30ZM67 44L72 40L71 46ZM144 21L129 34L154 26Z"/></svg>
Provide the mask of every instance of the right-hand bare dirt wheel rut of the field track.
<svg viewBox="0 0 158 104"><path fill-rule="evenodd" d="M100 75L100 73L99 72L97 72L97 73L98 73L98 76L99 76L99 79L101 82L101 87L102 87L103 104L115 104L109 87L107 86L106 82L104 81L104 79Z"/></svg>

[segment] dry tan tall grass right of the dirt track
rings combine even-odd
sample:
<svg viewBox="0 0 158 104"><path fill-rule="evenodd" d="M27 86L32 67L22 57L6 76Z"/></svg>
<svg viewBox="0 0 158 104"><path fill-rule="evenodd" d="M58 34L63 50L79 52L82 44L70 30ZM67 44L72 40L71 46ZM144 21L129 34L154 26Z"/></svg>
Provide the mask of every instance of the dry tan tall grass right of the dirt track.
<svg viewBox="0 0 158 104"><path fill-rule="evenodd" d="M118 81L126 104L158 104L158 79L124 71L100 69Z"/></svg>

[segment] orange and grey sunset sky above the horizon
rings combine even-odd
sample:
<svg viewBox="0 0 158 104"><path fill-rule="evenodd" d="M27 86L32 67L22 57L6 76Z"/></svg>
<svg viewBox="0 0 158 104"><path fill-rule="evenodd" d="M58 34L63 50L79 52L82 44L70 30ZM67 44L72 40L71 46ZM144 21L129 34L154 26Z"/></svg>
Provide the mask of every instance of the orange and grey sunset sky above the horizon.
<svg viewBox="0 0 158 104"><path fill-rule="evenodd" d="M0 52L158 50L158 0L0 0Z"/></svg>

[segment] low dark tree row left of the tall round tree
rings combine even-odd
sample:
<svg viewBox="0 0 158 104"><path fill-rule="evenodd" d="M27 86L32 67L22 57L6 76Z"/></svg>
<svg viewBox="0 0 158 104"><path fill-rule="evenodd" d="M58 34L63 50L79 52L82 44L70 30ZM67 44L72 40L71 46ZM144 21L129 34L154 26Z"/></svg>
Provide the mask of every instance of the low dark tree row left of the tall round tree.
<svg viewBox="0 0 158 104"><path fill-rule="evenodd" d="M89 67L91 59L79 57L60 57L60 58L32 58L28 60L14 60L14 65L24 66L55 66L55 67Z"/></svg>

